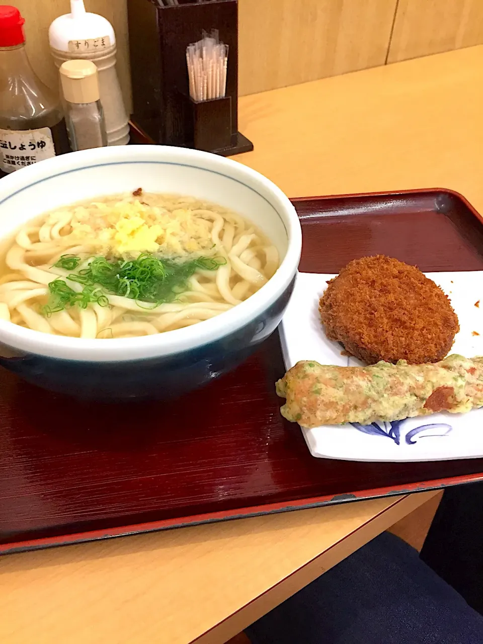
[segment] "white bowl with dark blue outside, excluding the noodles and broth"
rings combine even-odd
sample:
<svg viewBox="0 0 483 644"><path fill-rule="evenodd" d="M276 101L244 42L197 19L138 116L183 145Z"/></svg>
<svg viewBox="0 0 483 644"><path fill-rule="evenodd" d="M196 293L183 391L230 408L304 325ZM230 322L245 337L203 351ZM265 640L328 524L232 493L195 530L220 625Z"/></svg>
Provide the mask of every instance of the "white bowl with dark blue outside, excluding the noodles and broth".
<svg viewBox="0 0 483 644"><path fill-rule="evenodd" d="M138 397L156 387L177 395L238 364L276 328L300 258L298 216L276 185L221 156L177 147L115 146L21 169L0 181L0 247L39 214L138 187L204 198L252 220L278 247L282 259L276 274L220 316L155 336L88 340L0 320L3 366L46 388L87 397Z"/></svg>

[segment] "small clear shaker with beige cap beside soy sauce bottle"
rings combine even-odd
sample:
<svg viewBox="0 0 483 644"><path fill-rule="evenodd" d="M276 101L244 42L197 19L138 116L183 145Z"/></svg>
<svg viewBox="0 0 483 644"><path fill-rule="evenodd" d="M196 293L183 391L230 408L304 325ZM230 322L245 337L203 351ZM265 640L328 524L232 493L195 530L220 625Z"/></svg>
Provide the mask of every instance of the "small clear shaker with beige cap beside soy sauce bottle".
<svg viewBox="0 0 483 644"><path fill-rule="evenodd" d="M86 150L107 146L97 67L86 60L66 61L59 73L71 148Z"/></svg>

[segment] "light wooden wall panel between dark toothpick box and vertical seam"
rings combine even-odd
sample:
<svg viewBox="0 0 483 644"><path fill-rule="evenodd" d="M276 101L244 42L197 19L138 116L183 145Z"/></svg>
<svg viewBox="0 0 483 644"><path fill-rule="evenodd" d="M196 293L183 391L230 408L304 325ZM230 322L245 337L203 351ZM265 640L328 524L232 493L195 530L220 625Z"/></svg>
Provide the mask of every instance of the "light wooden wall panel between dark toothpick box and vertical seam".
<svg viewBox="0 0 483 644"><path fill-rule="evenodd" d="M240 95L383 65L396 0L239 0Z"/></svg>

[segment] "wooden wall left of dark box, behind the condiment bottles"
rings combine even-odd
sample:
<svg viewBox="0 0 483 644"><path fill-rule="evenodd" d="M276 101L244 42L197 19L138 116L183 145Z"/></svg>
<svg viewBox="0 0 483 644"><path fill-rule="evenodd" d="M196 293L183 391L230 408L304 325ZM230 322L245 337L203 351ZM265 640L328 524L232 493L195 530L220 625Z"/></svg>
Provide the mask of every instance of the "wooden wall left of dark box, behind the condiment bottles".
<svg viewBox="0 0 483 644"><path fill-rule="evenodd" d="M128 8L126 0L84 0L86 10L104 15L113 25L117 38L117 70L124 100L131 105L129 81ZM35 73L50 88L57 90L57 69L48 45L48 28L54 18L70 13L69 0L0 0L0 5L15 5L25 18L27 53Z"/></svg>

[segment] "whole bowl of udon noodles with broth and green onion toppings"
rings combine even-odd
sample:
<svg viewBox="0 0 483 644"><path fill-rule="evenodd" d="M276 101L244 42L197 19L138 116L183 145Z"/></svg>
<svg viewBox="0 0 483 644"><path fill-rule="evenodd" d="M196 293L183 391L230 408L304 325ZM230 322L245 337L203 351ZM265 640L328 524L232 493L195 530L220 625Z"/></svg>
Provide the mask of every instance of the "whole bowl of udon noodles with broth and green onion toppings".
<svg viewBox="0 0 483 644"><path fill-rule="evenodd" d="M298 216L256 171L167 146L58 156L0 180L0 365L85 399L178 396L274 332Z"/></svg>

